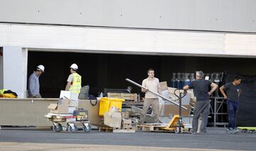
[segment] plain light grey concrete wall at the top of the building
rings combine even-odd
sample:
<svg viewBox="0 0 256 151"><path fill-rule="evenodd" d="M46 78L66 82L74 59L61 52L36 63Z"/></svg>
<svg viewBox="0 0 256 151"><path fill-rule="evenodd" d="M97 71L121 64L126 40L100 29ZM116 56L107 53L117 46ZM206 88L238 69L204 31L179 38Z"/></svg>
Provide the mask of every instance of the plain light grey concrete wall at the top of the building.
<svg viewBox="0 0 256 151"><path fill-rule="evenodd" d="M256 33L255 0L1 0L0 22Z"/></svg>

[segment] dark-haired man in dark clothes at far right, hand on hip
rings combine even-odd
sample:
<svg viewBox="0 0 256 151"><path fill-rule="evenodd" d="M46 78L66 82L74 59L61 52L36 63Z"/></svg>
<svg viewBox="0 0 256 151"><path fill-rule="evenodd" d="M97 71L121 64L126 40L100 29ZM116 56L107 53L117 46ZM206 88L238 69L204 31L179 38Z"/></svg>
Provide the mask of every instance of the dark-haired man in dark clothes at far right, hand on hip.
<svg viewBox="0 0 256 151"><path fill-rule="evenodd" d="M223 86L220 86L220 92L223 94L224 99L227 99L228 106L228 133L238 133L239 130L236 127L236 115L238 113L238 101L241 94L240 89L241 79L235 76L233 82L228 82ZM227 91L225 94L224 89Z"/></svg>

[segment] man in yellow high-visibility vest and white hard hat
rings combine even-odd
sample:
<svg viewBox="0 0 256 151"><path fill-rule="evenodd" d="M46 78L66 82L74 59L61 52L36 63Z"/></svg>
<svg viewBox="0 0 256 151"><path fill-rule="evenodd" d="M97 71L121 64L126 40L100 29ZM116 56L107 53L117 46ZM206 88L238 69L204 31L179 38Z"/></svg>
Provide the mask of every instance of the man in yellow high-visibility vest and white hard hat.
<svg viewBox="0 0 256 151"><path fill-rule="evenodd" d="M82 84L82 77L77 73L78 65L75 63L70 66L70 75L68 76L67 85L65 91L70 91L74 94L79 94Z"/></svg>

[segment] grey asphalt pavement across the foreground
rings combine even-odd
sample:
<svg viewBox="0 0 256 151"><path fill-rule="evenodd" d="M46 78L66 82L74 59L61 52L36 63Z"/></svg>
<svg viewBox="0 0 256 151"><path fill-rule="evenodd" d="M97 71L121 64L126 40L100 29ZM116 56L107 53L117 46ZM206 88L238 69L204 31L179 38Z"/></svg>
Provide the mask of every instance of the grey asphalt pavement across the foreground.
<svg viewBox="0 0 256 151"><path fill-rule="evenodd" d="M256 133L228 134L225 128L208 128L207 135L142 131L136 133L105 133L92 130L91 133L82 133L82 131L78 133L54 133L52 130L0 130L0 144L3 145L4 143L6 145L6 142L18 142L19 145L32 143L37 145L110 145L132 148L168 147L183 150L184 148L191 148L191 150L256 150Z"/></svg>

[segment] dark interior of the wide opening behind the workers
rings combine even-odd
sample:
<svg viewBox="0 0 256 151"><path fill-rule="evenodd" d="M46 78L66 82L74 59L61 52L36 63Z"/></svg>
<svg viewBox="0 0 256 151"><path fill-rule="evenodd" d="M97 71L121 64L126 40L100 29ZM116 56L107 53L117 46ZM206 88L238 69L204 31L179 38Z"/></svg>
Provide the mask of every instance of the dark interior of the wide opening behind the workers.
<svg viewBox="0 0 256 151"><path fill-rule="evenodd" d="M139 93L137 86L129 84L126 78L142 83L147 69L155 69L160 81L171 81L173 72L206 73L223 72L228 69L240 74L256 74L256 59L222 57L183 57L156 55L117 55L78 52L28 52L28 77L37 65L46 67L40 77L43 97L58 97L70 74L70 65L78 64L82 86L90 85L90 94L97 95L104 88L124 89L132 86L132 93Z"/></svg>

